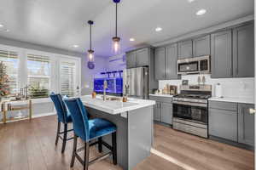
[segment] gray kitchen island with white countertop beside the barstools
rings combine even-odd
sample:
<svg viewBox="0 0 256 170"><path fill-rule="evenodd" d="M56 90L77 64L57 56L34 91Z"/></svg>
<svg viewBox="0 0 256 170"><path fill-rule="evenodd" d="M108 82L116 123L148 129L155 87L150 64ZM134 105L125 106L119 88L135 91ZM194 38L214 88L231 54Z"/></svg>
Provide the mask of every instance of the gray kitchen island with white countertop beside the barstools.
<svg viewBox="0 0 256 170"><path fill-rule="evenodd" d="M82 96L81 100L90 116L107 119L117 126L117 162L120 167L131 170L150 155L155 101L128 99L121 102L116 97L104 101L100 95L96 99ZM111 144L111 136L103 140Z"/></svg>

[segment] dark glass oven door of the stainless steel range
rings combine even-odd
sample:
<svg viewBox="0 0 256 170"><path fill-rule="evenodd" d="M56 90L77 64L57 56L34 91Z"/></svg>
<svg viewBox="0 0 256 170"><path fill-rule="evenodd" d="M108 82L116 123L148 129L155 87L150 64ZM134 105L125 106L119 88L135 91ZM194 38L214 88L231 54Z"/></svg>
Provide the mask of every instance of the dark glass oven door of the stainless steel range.
<svg viewBox="0 0 256 170"><path fill-rule="evenodd" d="M208 123L207 107L174 103L173 116L186 121Z"/></svg>

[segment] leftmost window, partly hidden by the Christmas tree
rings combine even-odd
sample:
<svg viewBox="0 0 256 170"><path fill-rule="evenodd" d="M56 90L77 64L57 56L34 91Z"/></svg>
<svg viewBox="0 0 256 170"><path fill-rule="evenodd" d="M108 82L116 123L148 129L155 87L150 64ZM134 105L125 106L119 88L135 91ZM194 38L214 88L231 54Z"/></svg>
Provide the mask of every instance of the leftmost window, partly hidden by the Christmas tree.
<svg viewBox="0 0 256 170"><path fill-rule="evenodd" d="M3 62L3 65L6 66L10 94L16 94L18 90L18 53L0 50L0 62Z"/></svg>

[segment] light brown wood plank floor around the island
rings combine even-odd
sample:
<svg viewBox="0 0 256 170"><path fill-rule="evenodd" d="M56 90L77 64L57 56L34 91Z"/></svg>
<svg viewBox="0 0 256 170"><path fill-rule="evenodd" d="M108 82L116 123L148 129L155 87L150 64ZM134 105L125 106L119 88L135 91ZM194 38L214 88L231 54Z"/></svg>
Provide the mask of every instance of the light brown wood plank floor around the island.
<svg viewBox="0 0 256 170"><path fill-rule="evenodd" d="M56 117L46 116L0 125L0 170L70 169L73 142L61 155L55 147ZM81 144L81 143L80 143ZM228 144L201 139L172 128L154 125L154 149L135 170L250 170L254 154ZM96 156L91 148L91 157ZM78 161L73 169L82 169ZM120 170L110 159L96 162L90 170Z"/></svg>

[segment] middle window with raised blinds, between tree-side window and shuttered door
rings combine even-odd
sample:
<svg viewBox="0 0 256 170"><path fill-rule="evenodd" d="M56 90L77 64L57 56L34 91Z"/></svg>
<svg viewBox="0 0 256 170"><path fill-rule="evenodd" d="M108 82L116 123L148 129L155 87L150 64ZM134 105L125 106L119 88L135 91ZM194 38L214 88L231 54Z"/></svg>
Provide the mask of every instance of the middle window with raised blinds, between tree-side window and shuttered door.
<svg viewBox="0 0 256 170"><path fill-rule="evenodd" d="M27 77L28 92L31 98L49 97L49 57L27 54Z"/></svg>

